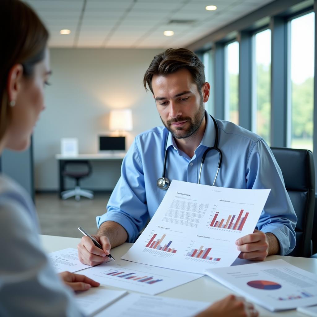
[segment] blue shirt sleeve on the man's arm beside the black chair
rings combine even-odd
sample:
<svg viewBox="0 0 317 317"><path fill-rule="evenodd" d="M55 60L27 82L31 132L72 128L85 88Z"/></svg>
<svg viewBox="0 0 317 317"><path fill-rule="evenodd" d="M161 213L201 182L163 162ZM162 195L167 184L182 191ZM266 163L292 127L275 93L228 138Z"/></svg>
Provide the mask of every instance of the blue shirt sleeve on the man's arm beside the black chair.
<svg viewBox="0 0 317 317"><path fill-rule="evenodd" d="M268 145L259 139L246 163L248 189L271 189L261 217L259 230L273 233L280 243L280 255L290 253L296 244L297 217L286 191L282 172Z"/></svg>

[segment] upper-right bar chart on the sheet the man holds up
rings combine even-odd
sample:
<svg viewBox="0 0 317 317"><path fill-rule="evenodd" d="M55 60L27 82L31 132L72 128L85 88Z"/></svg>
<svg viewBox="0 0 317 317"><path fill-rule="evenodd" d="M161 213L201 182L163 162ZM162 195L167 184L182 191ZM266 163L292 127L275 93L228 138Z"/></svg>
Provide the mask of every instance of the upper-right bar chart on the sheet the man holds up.
<svg viewBox="0 0 317 317"><path fill-rule="evenodd" d="M229 215L228 217L223 217L221 212L216 211L209 226L214 228L241 231L243 230L243 226L248 216L249 212L244 212L243 209L241 209L239 213Z"/></svg>

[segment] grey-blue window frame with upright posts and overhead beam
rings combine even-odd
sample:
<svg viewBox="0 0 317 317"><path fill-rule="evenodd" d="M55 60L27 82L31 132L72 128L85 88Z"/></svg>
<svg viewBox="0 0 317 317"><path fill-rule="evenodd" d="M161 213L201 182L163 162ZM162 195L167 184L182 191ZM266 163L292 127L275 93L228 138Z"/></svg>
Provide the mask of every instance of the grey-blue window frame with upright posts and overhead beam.
<svg viewBox="0 0 317 317"><path fill-rule="evenodd" d="M251 57L251 38L254 34L264 29L271 29L271 146L285 147L289 145L290 129L290 89L288 84L289 73L289 29L288 22L314 12L314 74L317 74L317 0L275 0L261 8L239 18L238 20L224 25L223 27L204 36L196 42L187 46L188 49L195 50L199 47L213 47L214 50L214 79L215 116L224 119L225 109L225 52L224 47L230 42L239 40L239 52L241 43L244 43L244 52ZM240 42L241 41L241 42ZM253 48L254 50L254 48ZM254 66L247 61L241 62L239 54L239 124L252 130L251 113L254 112L252 106L252 72ZM251 58L250 58L251 60ZM246 67L242 76L242 67ZM243 80L241 80L243 79ZM251 92L248 96L246 92ZM253 111L252 111L253 109ZM253 114L252 114L253 115ZM244 118L240 120L241 118ZM254 126L254 123L253 123ZM316 151L313 152L314 162L317 166L317 78L314 76L314 133L313 143ZM317 177L317 168L316 177Z"/></svg>

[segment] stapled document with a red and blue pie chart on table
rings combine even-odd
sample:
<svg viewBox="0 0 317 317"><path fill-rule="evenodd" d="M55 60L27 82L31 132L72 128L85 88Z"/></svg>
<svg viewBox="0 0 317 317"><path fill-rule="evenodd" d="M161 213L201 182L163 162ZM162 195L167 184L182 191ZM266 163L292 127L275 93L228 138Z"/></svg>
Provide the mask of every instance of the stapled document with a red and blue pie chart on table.
<svg viewBox="0 0 317 317"><path fill-rule="evenodd" d="M270 311L317 304L317 276L284 260L212 268L205 273Z"/></svg>

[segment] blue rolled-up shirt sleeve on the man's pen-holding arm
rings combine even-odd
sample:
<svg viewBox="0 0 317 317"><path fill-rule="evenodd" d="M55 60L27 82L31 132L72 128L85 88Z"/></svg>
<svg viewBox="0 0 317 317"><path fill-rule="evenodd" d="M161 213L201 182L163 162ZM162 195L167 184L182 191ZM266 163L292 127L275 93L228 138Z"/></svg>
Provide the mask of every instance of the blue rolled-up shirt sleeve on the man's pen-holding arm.
<svg viewBox="0 0 317 317"><path fill-rule="evenodd" d="M119 223L128 234L128 242L134 242L149 217L141 155L135 139L121 166L121 177L116 184L107 212L96 217L98 228L105 221Z"/></svg>

